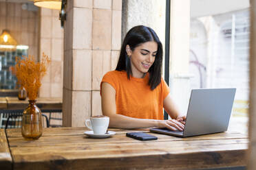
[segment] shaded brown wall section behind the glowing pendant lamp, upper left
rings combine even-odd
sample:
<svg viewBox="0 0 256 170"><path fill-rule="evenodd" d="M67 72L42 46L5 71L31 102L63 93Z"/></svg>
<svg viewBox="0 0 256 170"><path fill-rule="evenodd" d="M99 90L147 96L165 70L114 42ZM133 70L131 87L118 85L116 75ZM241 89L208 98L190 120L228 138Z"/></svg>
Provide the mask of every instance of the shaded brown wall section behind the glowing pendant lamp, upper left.
<svg viewBox="0 0 256 170"><path fill-rule="evenodd" d="M28 45L28 54L38 58L39 13L22 10L21 5L22 3L0 2L0 34L3 29L9 29L18 45Z"/></svg>

